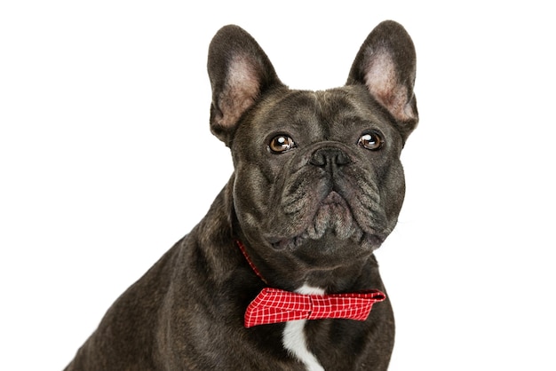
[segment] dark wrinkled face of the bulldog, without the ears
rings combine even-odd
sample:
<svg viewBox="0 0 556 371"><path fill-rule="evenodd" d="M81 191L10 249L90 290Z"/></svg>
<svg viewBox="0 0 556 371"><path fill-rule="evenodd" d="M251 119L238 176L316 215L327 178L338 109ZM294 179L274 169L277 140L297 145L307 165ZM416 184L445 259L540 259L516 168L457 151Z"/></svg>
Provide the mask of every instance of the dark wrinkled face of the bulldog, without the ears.
<svg viewBox="0 0 556 371"><path fill-rule="evenodd" d="M279 91L266 102L232 145L245 233L320 266L369 254L401 208L400 133L361 86Z"/></svg>

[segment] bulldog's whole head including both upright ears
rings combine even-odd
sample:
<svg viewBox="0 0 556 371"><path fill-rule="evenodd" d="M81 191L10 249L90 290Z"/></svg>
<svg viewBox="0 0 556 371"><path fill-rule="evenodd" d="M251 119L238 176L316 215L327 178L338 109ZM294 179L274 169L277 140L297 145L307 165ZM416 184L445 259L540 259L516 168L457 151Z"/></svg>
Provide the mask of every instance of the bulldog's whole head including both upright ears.
<svg viewBox="0 0 556 371"><path fill-rule="evenodd" d="M415 51L405 30L379 25L346 86L328 91L288 89L236 27L215 36L209 73L211 130L232 150L242 237L318 269L377 249L401 209L401 148L417 125Z"/></svg>

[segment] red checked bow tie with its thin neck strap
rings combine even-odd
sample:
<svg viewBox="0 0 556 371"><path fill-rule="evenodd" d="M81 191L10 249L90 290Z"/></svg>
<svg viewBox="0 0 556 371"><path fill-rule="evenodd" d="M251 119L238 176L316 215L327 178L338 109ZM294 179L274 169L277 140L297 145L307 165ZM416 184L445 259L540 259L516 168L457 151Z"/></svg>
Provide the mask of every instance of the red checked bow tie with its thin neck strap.
<svg viewBox="0 0 556 371"><path fill-rule="evenodd" d="M257 267L237 241L251 269L265 283ZM263 288L245 311L245 328L290 320L348 319L367 320L372 305L382 302L385 294L378 290L358 293L304 295L278 288Z"/></svg>

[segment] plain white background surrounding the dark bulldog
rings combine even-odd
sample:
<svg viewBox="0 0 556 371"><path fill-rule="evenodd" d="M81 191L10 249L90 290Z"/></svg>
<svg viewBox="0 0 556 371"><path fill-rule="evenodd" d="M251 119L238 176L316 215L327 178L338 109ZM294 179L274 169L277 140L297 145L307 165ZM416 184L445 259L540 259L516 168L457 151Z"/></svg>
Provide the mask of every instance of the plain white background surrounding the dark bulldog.
<svg viewBox="0 0 556 371"><path fill-rule="evenodd" d="M65 367L226 183L206 74L218 28L239 24L284 83L318 90L392 19L416 44L421 121L377 252L391 370L555 370L549 5L2 2L0 369Z"/></svg>

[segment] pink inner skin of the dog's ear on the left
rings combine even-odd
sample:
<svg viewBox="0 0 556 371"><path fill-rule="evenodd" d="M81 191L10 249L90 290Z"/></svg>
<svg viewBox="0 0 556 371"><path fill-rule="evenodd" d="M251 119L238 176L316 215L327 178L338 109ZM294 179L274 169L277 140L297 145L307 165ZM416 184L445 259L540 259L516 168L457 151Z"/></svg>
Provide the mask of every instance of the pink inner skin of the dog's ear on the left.
<svg viewBox="0 0 556 371"><path fill-rule="evenodd" d="M222 126L234 126L242 114L255 103L259 93L256 64L247 56L238 55L230 62L226 87L219 97Z"/></svg>

